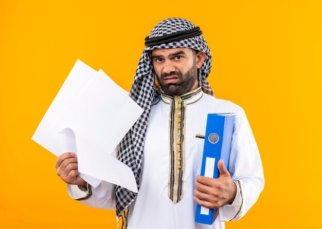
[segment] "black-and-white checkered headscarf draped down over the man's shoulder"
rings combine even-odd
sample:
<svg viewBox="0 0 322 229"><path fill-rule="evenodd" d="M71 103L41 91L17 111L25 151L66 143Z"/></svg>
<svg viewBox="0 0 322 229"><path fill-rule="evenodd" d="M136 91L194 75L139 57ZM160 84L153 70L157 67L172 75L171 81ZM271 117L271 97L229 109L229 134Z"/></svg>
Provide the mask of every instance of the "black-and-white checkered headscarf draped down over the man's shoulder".
<svg viewBox="0 0 322 229"><path fill-rule="evenodd" d="M203 91L213 96L213 91L206 80L211 69L211 53L204 37L201 36L202 32L199 31L196 36L190 36L180 40L182 37L181 34L190 30L199 30L199 27L195 27L195 25L185 19L173 17L157 24L146 38L146 45L149 39L161 40L161 42L166 41L168 43L158 44L160 42L154 42L152 43L153 46L147 45L141 55L129 96L144 109L144 112L118 145L118 160L132 168L138 189L140 186L141 162L149 115L152 102L158 96L158 93L155 91L155 72L151 59L151 50L155 48L185 47L206 53L205 62L199 69L198 81ZM171 37L171 34L178 34L178 36L169 41L167 37ZM159 37L159 39L155 39L156 37ZM166 37L166 40L164 40L164 37ZM137 194L121 186L116 186L115 194L116 215L117 219L119 219L124 210L133 202Z"/></svg>

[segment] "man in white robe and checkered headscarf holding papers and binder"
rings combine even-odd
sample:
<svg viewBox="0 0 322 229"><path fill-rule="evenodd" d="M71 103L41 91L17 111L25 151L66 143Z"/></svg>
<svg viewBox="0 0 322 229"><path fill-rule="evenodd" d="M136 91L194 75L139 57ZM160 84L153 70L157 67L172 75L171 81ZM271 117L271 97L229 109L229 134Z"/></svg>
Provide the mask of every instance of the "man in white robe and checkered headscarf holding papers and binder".
<svg viewBox="0 0 322 229"><path fill-rule="evenodd" d="M130 166L139 193L102 182L86 184L75 154L57 160L69 195L124 214L128 228L224 228L256 202L264 185L256 142L241 107L214 98L206 78L211 53L199 27L182 18L157 24L146 38L130 97L144 113L119 143L116 154ZM156 79L156 82L155 82ZM218 179L199 176L208 113L234 112L229 171L219 161ZM196 203L219 208L212 225L194 223ZM125 209L128 208L128 211Z"/></svg>

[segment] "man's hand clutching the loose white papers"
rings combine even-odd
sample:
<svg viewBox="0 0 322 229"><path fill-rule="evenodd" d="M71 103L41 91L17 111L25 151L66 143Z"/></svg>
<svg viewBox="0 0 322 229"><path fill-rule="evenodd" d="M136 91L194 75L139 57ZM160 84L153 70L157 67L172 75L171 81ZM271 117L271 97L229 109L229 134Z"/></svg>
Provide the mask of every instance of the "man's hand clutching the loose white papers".
<svg viewBox="0 0 322 229"><path fill-rule="evenodd" d="M65 152L57 158L57 175L67 184L76 184L83 187L87 186L78 172L78 163L75 152Z"/></svg>

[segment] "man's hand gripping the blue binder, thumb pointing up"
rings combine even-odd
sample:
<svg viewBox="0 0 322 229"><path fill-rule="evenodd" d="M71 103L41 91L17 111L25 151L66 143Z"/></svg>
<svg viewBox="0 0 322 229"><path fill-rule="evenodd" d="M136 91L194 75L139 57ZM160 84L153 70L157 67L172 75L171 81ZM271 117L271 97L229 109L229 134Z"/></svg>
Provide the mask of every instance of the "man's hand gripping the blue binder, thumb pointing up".
<svg viewBox="0 0 322 229"><path fill-rule="evenodd" d="M237 187L231 180L223 160L219 160L218 169L218 179L196 177L193 199L201 206L214 209L232 203L235 199Z"/></svg>

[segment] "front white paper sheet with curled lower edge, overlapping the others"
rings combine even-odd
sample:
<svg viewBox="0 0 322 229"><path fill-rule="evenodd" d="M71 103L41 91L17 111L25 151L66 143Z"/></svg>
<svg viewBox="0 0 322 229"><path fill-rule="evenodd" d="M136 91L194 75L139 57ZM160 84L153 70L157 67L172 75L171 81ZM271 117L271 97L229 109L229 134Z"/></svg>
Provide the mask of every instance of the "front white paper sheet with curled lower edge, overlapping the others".
<svg viewBox="0 0 322 229"><path fill-rule="evenodd" d="M80 173L137 192L132 170L111 153L142 111L126 90L99 70L47 135L54 139L66 128L73 130Z"/></svg>

